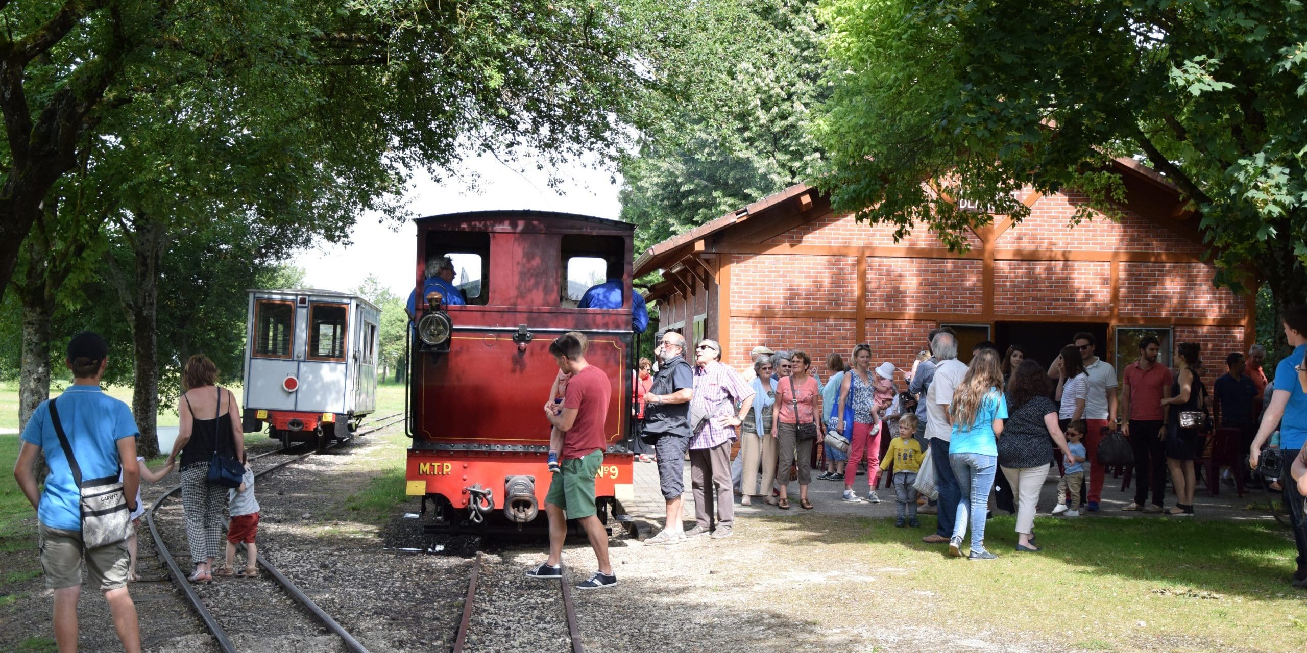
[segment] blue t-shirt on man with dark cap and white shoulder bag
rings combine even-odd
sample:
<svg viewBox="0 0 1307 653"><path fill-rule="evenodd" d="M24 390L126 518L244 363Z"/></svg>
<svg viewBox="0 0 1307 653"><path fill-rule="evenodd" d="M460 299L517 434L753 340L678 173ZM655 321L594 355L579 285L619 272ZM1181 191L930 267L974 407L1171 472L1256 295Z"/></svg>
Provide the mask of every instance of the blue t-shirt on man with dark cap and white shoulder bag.
<svg viewBox="0 0 1307 653"><path fill-rule="evenodd" d="M73 457L81 468L82 481L118 477L120 461L118 440L136 438L132 409L97 385L69 385L59 401L59 423L64 427ZM42 401L22 430L22 441L41 447L50 466L46 488L41 494L37 516L50 528L81 530L81 492L73 482L64 448L59 445L55 424L50 421L50 401Z"/></svg>

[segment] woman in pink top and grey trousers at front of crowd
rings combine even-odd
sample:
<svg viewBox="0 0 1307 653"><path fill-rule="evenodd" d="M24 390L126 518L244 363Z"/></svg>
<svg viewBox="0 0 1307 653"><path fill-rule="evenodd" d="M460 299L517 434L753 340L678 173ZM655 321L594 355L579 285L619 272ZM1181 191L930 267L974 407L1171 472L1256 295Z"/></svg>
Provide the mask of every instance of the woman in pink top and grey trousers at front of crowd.
<svg viewBox="0 0 1307 653"><path fill-rule="evenodd" d="M817 379L808 374L813 360L802 351L795 351L789 357L791 374L776 383L776 404L771 413L771 436L778 440L776 486L780 488L778 505L780 509L789 509L789 499L786 494L789 481L789 466L795 464L795 449L799 460L799 505L812 509L808 500L808 485L812 483L812 469L808 461L812 460L813 447L826 439L826 427L818 419L821 411L821 388ZM797 409L797 414L796 414ZM799 438L799 424L814 424L817 438L806 440Z"/></svg>

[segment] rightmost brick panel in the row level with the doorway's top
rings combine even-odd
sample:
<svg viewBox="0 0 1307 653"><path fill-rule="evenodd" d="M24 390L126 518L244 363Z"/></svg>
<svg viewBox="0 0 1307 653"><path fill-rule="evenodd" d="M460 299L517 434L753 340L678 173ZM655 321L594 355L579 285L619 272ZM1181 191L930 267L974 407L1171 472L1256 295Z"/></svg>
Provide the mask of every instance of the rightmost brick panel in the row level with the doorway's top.
<svg viewBox="0 0 1307 653"><path fill-rule="evenodd" d="M1212 285L1201 263L1121 263L1120 315L1155 317L1242 317L1244 300Z"/></svg>

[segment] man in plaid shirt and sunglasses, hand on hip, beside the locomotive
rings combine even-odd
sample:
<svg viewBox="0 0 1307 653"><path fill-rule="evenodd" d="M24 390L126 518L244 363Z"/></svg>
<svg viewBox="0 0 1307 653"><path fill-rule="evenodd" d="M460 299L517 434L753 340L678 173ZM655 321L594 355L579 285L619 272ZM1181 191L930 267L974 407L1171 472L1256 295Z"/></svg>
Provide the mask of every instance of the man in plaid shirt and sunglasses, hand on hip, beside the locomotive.
<svg viewBox="0 0 1307 653"><path fill-rule="evenodd" d="M721 362L721 345L704 340L694 347L694 398L690 414L708 415L690 438L690 487L694 490L693 529L686 537L708 532L708 508L703 503L704 486L718 485L716 509L719 522L714 538L731 537L735 525L735 498L731 496L731 441L736 427L744 422L753 405L753 388L733 368ZM736 410L736 405L740 409Z"/></svg>

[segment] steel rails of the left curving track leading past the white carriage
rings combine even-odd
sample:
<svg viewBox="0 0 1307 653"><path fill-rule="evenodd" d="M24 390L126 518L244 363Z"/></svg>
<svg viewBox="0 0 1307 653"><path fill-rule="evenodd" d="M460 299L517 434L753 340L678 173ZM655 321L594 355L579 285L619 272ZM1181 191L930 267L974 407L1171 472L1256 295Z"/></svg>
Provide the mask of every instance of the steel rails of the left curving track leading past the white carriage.
<svg viewBox="0 0 1307 653"><path fill-rule="evenodd" d="M375 428L371 428L369 431L357 432L348 439L340 440L336 444L327 447L327 449L340 447L341 444L352 441L354 438L358 438L359 435L375 432L387 426L391 426L399 419L403 419L403 415L404 415L403 413L396 413L393 415L378 418L378 422L387 419L391 421L384 424L376 426ZM392 419L392 418L399 418L399 419ZM260 453L259 456L251 457L251 460L273 453L285 453L289 448L290 447ZM278 470L286 465L290 465L291 462L298 462L301 460L305 460L308 456L312 456L312 453L314 452L308 452L297 456L294 458L286 460L284 462L278 462L277 465L273 465L263 471L259 471L257 474L255 474L255 478L268 474L269 471ZM205 628L208 628L209 633L213 635L213 639L217 640L218 648L221 648L223 653L238 653L235 644L233 644L231 639L227 637L226 631L223 631L222 626L218 624L217 619L213 616L213 613L210 613L209 609L205 607L204 601L200 598L200 594L195 592L195 588L192 588L190 581L186 580L187 575L182 571L180 565L176 564L176 559L173 558L173 554L169 551L167 545L159 535L158 526L156 526L154 524L154 512L158 511L159 505L162 505L169 496L176 494L180 490L182 486L175 486L167 490L158 499L154 500L154 504L150 505L149 511L145 511L145 522L150 529L150 537L154 538L154 550L158 552L159 558L163 559L163 564L169 568L169 576L171 576L173 584L182 590L182 594L191 603L191 609L195 610L195 613L200 616L200 620L204 622ZM288 579L285 575L281 573L280 569L276 568L276 565L269 563L263 555L259 555L257 562L260 565L263 565L264 569L268 569L268 573L272 575L273 581L281 585L282 590L285 590L286 594L290 596L290 598L295 599L295 602L303 606L310 613L310 615L315 618L319 623L322 623L324 627L327 627L327 629L336 633L345 644L345 648L348 648L353 653L367 653L367 649L363 648L363 645L359 644L358 640L356 640L349 632L346 632L345 628L342 628L339 622L331 618L331 615L323 611L322 607L314 603L314 601L308 598L308 596L301 592L299 588L297 588L295 584L290 581L290 579Z"/></svg>

